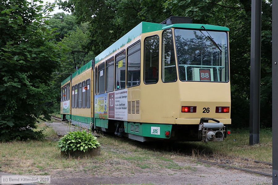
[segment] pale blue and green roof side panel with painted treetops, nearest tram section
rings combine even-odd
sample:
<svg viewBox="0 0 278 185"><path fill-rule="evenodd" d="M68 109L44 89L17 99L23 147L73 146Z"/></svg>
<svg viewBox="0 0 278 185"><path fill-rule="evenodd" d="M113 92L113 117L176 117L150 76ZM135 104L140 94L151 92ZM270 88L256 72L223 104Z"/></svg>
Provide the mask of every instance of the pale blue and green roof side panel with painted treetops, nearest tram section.
<svg viewBox="0 0 278 185"><path fill-rule="evenodd" d="M127 34L122 36L119 40L117 40L115 43L113 43L111 46L107 47L104 51L97 55L95 57L95 64L105 59L107 56L111 55L115 51L119 50L121 47L123 47L142 33L161 30L162 26L163 24L141 22L132 30L128 31Z"/></svg>

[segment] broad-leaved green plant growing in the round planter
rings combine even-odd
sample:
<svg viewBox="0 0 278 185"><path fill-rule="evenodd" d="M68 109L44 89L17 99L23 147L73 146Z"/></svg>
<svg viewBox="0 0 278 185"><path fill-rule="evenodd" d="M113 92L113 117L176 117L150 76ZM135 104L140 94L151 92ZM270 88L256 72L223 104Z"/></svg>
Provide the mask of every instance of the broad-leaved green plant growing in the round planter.
<svg viewBox="0 0 278 185"><path fill-rule="evenodd" d="M70 132L58 141L58 147L65 153L75 150L86 152L99 146L97 138L86 130Z"/></svg>

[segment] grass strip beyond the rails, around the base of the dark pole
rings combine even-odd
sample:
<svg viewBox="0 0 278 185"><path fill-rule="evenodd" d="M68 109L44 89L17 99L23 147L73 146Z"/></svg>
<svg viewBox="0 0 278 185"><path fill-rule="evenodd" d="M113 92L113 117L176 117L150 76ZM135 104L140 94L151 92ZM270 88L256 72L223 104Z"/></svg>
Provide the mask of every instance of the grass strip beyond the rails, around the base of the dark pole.
<svg viewBox="0 0 278 185"><path fill-rule="evenodd" d="M192 149L192 155L215 153L251 158L260 161L272 162L272 131L260 130L260 143L249 146L249 130L232 130L232 134L224 142L185 142L184 147Z"/></svg>

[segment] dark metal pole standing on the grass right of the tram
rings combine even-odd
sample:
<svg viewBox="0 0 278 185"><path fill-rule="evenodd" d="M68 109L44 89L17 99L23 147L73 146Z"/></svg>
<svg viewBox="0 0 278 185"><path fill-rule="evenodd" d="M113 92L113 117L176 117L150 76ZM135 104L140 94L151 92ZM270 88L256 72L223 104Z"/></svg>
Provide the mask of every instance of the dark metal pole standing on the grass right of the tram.
<svg viewBox="0 0 278 185"><path fill-rule="evenodd" d="M249 144L259 143L262 1L251 6L250 134Z"/></svg>

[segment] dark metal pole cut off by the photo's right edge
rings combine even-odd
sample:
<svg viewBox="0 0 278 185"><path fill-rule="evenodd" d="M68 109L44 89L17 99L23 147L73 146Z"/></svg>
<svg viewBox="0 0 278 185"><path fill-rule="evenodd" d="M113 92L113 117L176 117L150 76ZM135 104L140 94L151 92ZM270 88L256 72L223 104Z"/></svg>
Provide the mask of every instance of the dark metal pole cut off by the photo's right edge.
<svg viewBox="0 0 278 185"><path fill-rule="evenodd" d="M278 185L278 1L272 1L272 182Z"/></svg>

